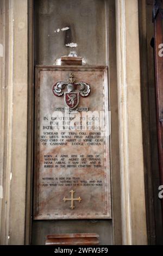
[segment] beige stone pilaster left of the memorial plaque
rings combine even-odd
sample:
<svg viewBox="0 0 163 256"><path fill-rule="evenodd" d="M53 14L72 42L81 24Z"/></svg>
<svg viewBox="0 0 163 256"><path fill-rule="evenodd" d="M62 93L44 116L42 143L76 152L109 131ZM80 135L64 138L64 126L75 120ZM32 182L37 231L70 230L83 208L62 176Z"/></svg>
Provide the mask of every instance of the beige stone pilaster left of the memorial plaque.
<svg viewBox="0 0 163 256"><path fill-rule="evenodd" d="M3 0L5 61L1 79L2 245L23 245L26 208L28 1ZM11 178L12 173L12 179Z"/></svg>

